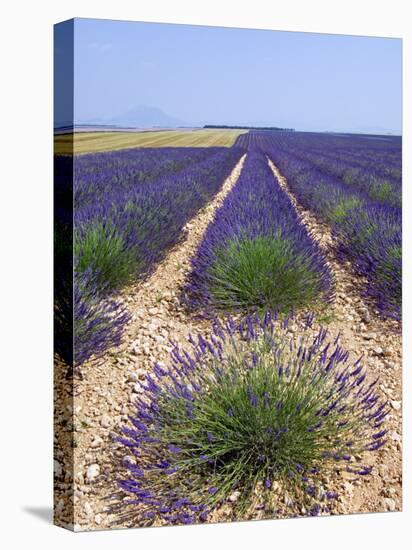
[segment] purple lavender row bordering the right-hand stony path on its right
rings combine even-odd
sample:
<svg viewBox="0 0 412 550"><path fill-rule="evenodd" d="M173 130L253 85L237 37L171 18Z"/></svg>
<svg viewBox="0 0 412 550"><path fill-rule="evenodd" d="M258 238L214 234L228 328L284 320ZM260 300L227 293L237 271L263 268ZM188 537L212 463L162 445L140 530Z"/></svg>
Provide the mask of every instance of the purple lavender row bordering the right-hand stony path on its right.
<svg viewBox="0 0 412 550"><path fill-rule="evenodd" d="M371 198L368 189L357 182L324 170L301 154L294 136L257 133L253 147L259 147L288 179L299 202L332 225L339 242L339 253L350 259L358 273L368 281L366 292L388 317L400 319L402 301L402 214L398 206ZM310 149L311 137L307 136ZM325 142L326 143L326 142ZM342 146L343 147L343 146ZM343 147L344 148L344 147ZM391 202L391 201L390 201Z"/></svg>

